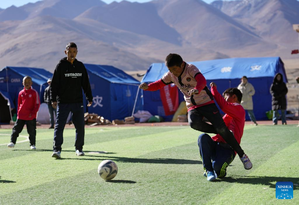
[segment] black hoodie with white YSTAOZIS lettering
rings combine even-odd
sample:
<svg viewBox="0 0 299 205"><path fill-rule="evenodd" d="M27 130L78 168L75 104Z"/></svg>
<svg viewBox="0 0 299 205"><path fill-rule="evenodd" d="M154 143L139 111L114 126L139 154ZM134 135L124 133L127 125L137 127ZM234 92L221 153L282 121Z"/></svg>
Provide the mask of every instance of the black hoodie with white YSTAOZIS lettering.
<svg viewBox="0 0 299 205"><path fill-rule="evenodd" d="M62 58L57 64L50 85L51 102L82 103L82 88L86 99L91 102L92 94L84 64L77 59L73 64Z"/></svg>

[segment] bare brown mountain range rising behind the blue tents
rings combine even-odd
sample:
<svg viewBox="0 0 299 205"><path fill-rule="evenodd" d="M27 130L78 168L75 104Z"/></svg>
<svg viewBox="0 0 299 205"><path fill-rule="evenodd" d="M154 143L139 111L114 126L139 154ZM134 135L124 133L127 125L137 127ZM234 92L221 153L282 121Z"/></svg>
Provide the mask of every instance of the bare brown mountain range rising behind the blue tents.
<svg viewBox="0 0 299 205"><path fill-rule="evenodd" d="M43 0L0 10L0 68L53 72L68 42L77 59L146 70L169 53L186 61L281 56L298 49L297 0Z"/></svg>

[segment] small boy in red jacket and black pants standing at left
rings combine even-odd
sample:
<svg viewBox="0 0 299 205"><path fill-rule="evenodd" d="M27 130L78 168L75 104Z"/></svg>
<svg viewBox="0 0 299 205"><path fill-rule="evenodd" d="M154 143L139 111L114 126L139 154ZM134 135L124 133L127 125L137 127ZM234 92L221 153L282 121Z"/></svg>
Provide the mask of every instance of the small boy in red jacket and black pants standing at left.
<svg viewBox="0 0 299 205"><path fill-rule="evenodd" d="M7 147L14 147L17 137L22 132L26 123L27 132L29 134L30 149L35 150L35 137L36 137L36 114L40 106L39 95L34 90L32 79L30 76L23 78L24 90L19 92L18 97L18 117L15 125L13 126L13 133L10 137L10 143Z"/></svg>

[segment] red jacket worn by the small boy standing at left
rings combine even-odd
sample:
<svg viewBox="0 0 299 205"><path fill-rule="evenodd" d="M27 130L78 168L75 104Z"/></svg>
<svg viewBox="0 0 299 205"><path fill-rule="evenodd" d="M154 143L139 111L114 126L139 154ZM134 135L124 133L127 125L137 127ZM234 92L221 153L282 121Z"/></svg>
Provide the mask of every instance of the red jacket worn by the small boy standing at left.
<svg viewBox="0 0 299 205"><path fill-rule="evenodd" d="M33 120L40 106L39 95L32 87L19 92L18 97L18 119ZM30 116L30 117L29 117Z"/></svg>

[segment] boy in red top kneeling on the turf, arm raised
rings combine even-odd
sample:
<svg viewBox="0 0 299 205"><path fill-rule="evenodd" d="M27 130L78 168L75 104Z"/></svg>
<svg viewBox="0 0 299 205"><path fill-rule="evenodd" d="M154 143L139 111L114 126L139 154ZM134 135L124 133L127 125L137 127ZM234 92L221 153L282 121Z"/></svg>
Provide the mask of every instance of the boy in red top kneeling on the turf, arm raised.
<svg viewBox="0 0 299 205"><path fill-rule="evenodd" d="M242 93L237 88L228 88L223 93L223 97L217 91L216 84L212 82L211 93L219 107L225 112L223 121L228 129L234 134L235 139L240 144L245 125L245 110L240 105ZM202 158L202 165L205 170L204 176L208 181L213 181L216 177L226 176L226 168L234 160L236 152L225 142L221 135L210 137L208 134L199 135L199 153ZM248 160L249 159L241 159ZM247 161L245 162L247 163Z"/></svg>

